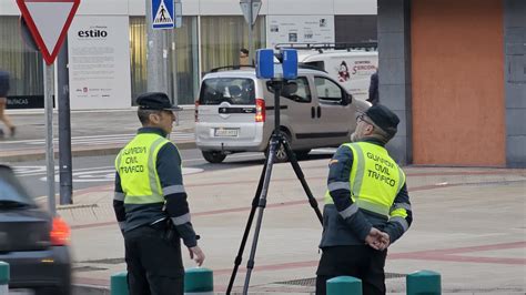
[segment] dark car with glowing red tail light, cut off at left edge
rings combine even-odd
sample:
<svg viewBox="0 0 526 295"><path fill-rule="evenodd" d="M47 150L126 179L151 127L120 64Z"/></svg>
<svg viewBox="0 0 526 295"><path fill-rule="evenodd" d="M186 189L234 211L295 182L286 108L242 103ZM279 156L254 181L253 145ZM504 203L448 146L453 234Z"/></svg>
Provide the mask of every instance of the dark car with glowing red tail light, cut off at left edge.
<svg viewBox="0 0 526 295"><path fill-rule="evenodd" d="M71 294L70 228L40 208L0 165L0 261L10 265L9 288L22 294Z"/></svg>

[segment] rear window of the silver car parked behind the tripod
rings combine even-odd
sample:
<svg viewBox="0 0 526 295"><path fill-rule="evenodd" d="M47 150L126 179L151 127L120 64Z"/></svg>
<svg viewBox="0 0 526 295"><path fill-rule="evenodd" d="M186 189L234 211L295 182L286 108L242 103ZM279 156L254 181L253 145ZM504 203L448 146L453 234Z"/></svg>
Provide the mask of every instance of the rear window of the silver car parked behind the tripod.
<svg viewBox="0 0 526 295"><path fill-rule="evenodd" d="M255 104L254 81L246 78L210 78L203 81L199 103Z"/></svg>

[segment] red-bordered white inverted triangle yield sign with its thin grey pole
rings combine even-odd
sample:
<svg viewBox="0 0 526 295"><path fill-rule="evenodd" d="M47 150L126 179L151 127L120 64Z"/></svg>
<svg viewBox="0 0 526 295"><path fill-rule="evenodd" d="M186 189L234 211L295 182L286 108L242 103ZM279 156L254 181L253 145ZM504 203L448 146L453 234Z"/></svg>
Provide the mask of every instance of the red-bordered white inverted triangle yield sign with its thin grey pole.
<svg viewBox="0 0 526 295"><path fill-rule="evenodd" d="M49 211L55 214L53 152L53 62L59 54L80 0L17 0L22 18L39 47L44 63L45 162Z"/></svg>

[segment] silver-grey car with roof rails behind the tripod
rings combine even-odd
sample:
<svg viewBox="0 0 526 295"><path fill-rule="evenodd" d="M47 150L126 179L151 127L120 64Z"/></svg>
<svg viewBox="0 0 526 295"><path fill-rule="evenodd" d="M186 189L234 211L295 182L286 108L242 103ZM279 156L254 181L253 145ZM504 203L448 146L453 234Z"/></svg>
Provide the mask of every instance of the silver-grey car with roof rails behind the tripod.
<svg viewBox="0 0 526 295"><path fill-rule="evenodd" d="M280 129L297 157L316 148L350 141L356 113L371 103L353 96L324 71L300 68L280 99ZM203 157L221 163L237 152L266 152L274 130L274 93L253 68L213 71L203 77L195 102L195 144ZM283 146L276 161L287 161Z"/></svg>

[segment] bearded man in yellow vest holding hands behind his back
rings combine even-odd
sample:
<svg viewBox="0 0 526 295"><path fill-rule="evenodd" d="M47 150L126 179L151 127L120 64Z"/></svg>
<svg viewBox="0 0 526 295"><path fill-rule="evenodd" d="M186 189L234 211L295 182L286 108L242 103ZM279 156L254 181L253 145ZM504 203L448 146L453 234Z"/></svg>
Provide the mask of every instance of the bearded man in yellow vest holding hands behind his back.
<svg viewBox="0 0 526 295"><path fill-rule="evenodd" d="M365 295L385 294L387 246L413 220L405 174L384 148L398 118L376 104L356 120L352 143L342 144L328 164L316 294L342 275L362 279Z"/></svg>

